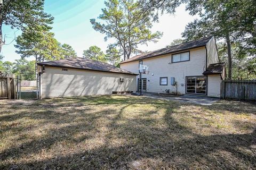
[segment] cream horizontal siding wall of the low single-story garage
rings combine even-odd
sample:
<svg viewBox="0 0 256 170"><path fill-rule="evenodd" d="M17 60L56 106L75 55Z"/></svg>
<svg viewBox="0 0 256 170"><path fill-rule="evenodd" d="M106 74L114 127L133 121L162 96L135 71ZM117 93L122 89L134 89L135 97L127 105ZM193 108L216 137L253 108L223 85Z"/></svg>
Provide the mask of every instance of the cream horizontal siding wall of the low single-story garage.
<svg viewBox="0 0 256 170"><path fill-rule="evenodd" d="M135 91L136 75L45 67L41 79L42 98L108 95L112 91ZM120 82L119 78L124 78Z"/></svg>

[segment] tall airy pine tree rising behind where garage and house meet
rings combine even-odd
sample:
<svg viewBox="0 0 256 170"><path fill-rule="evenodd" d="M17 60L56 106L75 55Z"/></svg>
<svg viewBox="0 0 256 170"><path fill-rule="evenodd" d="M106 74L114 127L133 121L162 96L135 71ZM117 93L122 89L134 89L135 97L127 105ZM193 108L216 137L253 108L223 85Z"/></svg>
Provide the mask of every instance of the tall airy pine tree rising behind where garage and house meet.
<svg viewBox="0 0 256 170"><path fill-rule="evenodd" d="M134 0L109 0L105 1L106 8L98 17L102 22L91 19L93 28L109 38L116 39L115 46L123 50L124 58L130 58L133 53L141 53L138 45L147 44L149 41L157 42L162 36L159 31L151 32L152 11L143 11L139 1Z"/></svg>

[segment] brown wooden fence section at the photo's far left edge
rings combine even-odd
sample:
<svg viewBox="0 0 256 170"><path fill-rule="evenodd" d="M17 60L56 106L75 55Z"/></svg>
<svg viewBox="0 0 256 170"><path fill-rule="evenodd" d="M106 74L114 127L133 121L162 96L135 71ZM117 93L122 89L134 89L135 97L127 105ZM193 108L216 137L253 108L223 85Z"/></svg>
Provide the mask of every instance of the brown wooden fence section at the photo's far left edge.
<svg viewBox="0 0 256 170"><path fill-rule="evenodd" d="M17 99L16 87L15 75L0 72L0 99Z"/></svg>

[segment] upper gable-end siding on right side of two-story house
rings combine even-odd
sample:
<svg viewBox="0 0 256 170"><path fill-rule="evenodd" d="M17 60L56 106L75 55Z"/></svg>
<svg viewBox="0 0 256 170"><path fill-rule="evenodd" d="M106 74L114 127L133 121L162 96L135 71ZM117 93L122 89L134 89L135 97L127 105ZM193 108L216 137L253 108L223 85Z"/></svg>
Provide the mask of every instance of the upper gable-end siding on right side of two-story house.
<svg viewBox="0 0 256 170"><path fill-rule="evenodd" d="M209 66L209 64L219 63L218 51L217 51L214 37L212 37L212 39L207 43L206 48L207 48L207 66Z"/></svg>

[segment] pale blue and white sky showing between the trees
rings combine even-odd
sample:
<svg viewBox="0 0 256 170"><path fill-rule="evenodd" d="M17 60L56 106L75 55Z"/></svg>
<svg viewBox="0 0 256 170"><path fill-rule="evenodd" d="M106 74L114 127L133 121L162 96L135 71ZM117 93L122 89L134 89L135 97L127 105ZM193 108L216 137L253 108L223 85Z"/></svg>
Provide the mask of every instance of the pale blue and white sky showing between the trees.
<svg viewBox="0 0 256 170"><path fill-rule="evenodd" d="M52 25L55 38L61 43L71 45L78 57L82 57L83 50L96 45L104 52L111 40L104 41L104 35L92 28L90 19L97 18L101 14L104 1L91 0L45 0L45 12L54 16ZM140 46L141 50L156 50L169 45L173 39L181 38L181 32L185 29L188 22L195 19L196 16L190 16L185 11L185 5L177 8L174 15L164 14L159 17L158 23L153 23L152 31L163 32L163 37L158 43L149 43L148 46ZM3 34L7 35L6 43L10 43L15 35L20 35L19 30L12 30L9 26L3 26ZM15 41L9 45L4 45L1 54L5 56L4 61L17 60L19 54L15 53ZM33 57L29 60L34 60Z"/></svg>

